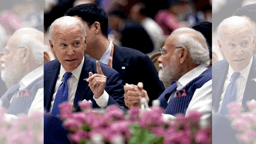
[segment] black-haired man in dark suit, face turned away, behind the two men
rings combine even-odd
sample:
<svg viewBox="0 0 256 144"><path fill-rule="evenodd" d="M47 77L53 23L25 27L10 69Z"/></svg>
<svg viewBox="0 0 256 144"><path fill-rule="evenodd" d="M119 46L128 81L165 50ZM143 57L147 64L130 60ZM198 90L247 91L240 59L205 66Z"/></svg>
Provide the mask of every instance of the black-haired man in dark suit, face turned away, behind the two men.
<svg viewBox="0 0 256 144"><path fill-rule="evenodd" d="M108 18L102 8L95 4L82 4L69 9L65 15L77 17L83 22L87 33L85 53L120 73L123 85L142 82L150 97L149 104L163 93L164 85L146 54L116 46L107 39Z"/></svg>

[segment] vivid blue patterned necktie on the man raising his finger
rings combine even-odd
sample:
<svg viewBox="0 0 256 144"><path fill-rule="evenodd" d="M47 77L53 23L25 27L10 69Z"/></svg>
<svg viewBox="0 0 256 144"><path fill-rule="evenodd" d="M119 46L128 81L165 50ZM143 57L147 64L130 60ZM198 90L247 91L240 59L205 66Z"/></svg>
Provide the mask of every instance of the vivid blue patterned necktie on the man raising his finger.
<svg viewBox="0 0 256 144"><path fill-rule="evenodd" d="M63 82L60 84L60 87L58 88L54 103L53 103L53 109L51 110L51 114L53 115L59 115L60 114L60 104L68 101L68 78L72 75L71 72L66 72L64 74Z"/></svg>

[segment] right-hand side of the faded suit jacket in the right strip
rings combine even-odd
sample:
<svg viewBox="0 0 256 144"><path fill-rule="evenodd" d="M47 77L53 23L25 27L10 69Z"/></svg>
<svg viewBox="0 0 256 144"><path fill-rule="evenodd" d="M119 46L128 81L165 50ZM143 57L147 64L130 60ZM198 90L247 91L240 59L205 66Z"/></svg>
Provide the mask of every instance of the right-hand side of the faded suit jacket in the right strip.
<svg viewBox="0 0 256 144"><path fill-rule="evenodd" d="M256 82L252 79L256 78L256 57L253 55L252 67L247 79L245 93L243 94L242 105L247 108L246 102L256 97ZM248 111L248 109L246 109Z"/></svg>

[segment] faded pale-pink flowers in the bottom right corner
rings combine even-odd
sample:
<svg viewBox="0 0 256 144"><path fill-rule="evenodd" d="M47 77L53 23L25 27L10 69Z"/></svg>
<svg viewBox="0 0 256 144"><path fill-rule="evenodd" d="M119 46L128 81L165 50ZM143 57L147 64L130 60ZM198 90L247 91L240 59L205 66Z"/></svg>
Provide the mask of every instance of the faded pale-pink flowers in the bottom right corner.
<svg viewBox="0 0 256 144"><path fill-rule="evenodd" d="M245 144L256 144L256 102L247 102L249 111L243 112L238 102L228 105L232 126L237 129L237 138Z"/></svg>

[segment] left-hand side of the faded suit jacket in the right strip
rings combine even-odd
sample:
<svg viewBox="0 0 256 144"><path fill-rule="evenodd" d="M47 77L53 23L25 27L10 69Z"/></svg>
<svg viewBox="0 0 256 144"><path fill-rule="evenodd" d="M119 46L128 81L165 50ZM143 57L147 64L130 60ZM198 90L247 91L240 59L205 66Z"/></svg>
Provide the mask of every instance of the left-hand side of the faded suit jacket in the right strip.
<svg viewBox="0 0 256 144"><path fill-rule="evenodd" d="M217 67L217 66L216 66ZM215 67L215 68L216 68ZM220 68L215 71L213 75L213 97L212 97L212 106L215 111L218 111L218 107L220 104L220 98L223 91L223 86L225 82L225 78L228 72L228 62L225 61L224 64L220 66Z"/></svg>

